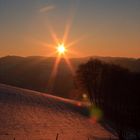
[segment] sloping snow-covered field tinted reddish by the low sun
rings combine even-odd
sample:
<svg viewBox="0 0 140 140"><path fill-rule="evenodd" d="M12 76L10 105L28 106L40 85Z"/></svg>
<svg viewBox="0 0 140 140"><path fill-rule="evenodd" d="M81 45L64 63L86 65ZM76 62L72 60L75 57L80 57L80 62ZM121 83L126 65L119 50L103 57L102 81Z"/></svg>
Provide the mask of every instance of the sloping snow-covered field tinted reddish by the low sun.
<svg viewBox="0 0 140 140"><path fill-rule="evenodd" d="M78 102L0 85L0 140L108 139L110 132L91 123Z"/></svg>

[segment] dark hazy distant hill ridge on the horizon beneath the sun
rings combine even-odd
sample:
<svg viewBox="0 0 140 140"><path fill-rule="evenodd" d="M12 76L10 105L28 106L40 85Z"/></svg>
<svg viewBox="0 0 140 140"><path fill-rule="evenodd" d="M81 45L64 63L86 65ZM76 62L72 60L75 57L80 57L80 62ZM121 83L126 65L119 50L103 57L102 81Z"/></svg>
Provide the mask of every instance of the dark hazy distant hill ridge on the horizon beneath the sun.
<svg viewBox="0 0 140 140"><path fill-rule="evenodd" d="M90 57L71 58L76 70L78 65L85 63ZM131 71L140 72L140 59L117 57L92 57L105 62L114 63ZM30 56L6 56L0 58L0 83L14 85L41 92L49 92L66 98L79 98L74 85L74 77L64 59L61 60L55 78L53 90L50 91L48 81L56 58ZM76 95L77 94L77 95ZM75 96L74 96L75 95Z"/></svg>

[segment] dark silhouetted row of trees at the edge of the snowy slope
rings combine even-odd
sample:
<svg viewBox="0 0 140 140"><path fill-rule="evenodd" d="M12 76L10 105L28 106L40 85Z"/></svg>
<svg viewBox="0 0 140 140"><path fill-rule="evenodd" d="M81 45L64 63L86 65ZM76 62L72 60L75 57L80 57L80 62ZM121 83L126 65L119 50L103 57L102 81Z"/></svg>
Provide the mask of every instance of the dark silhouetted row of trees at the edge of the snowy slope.
<svg viewBox="0 0 140 140"><path fill-rule="evenodd" d="M140 73L91 59L79 66L76 79L120 139L128 132L140 138Z"/></svg>

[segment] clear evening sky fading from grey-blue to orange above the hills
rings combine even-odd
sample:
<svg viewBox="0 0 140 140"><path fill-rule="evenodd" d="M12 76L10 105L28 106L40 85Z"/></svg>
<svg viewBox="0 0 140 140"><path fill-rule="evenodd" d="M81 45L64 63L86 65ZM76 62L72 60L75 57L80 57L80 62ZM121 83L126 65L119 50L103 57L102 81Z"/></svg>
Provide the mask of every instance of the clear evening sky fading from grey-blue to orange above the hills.
<svg viewBox="0 0 140 140"><path fill-rule="evenodd" d="M69 57L139 58L140 0L0 0L0 56L55 55L66 31Z"/></svg>

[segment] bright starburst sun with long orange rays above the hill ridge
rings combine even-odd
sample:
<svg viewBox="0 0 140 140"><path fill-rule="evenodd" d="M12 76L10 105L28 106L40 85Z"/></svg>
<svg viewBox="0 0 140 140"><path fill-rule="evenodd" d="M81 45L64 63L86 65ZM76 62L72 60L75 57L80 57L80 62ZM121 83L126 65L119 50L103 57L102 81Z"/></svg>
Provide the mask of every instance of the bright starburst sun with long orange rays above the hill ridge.
<svg viewBox="0 0 140 140"><path fill-rule="evenodd" d="M71 74L73 76L75 75L75 70L69 59L69 56L71 57L72 55L76 55L76 57L80 57L78 55L78 52L74 51L71 47L74 46L75 44L77 44L79 41L81 41L83 39L83 37L79 37L78 39L68 42L69 33L71 30L71 26L72 26L72 21L73 21L73 15L71 15L68 18L68 20L66 21L65 29L64 29L63 36L61 39L60 39L60 37L58 37L57 33L53 29L52 24L50 24L48 22L47 27L50 32L51 38L53 39L53 41L52 41L53 43L50 44L47 42L39 41L41 46L52 50L52 52L50 54L48 54L49 57L51 57L51 55L52 55L52 57L56 56L56 60L54 62L52 71L50 73L50 78L47 83L47 87L48 87L49 91L52 91L52 89L53 89L55 78L58 73L58 68L59 68L61 59L65 60L65 63L67 64Z"/></svg>

